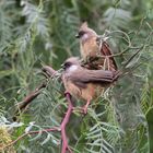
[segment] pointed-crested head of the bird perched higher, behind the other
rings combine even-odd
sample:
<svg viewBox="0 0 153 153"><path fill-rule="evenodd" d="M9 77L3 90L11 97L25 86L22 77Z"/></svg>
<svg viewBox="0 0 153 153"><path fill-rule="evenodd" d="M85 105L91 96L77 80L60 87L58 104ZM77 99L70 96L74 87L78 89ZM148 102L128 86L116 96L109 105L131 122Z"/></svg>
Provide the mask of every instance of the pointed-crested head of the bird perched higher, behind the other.
<svg viewBox="0 0 153 153"><path fill-rule="evenodd" d="M96 32L93 31L92 28L90 28L87 26L87 22L84 22L80 28L79 28L79 32L78 34L75 35L76 38L80 38L81 40L86 40L93 36L97 36Z"/></svg>

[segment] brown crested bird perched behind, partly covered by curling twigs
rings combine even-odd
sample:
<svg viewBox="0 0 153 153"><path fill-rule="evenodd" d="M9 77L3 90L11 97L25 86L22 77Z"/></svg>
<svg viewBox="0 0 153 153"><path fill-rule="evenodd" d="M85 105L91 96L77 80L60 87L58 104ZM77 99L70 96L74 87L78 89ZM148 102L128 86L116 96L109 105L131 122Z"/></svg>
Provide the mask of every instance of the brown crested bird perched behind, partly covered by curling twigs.
<svg viewBox="0 0 153 153"><path fill-rule="evenodd" d="M80 38L81 56L89 69L117 70L114 57L109 57L113 55L109 45L90 28L86 22L81 25L75 37ZM101 56L103 57L99 58Z"/></svg>

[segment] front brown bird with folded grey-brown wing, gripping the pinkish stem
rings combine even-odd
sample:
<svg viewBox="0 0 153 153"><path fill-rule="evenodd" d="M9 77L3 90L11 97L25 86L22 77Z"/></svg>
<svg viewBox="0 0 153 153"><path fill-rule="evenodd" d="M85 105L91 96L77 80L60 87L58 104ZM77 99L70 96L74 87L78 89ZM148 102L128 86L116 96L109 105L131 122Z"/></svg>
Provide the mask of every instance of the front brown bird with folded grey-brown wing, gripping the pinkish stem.
<svg viewBox="0 0 153 153"><path fill-rule="evenodd" d="M64 89L73 97L86 102L84 114L91 101L99 96L114 82L115 73L108 70L87 70L81 67L78 58L69 58L62 64L62 81Z"/></svg>

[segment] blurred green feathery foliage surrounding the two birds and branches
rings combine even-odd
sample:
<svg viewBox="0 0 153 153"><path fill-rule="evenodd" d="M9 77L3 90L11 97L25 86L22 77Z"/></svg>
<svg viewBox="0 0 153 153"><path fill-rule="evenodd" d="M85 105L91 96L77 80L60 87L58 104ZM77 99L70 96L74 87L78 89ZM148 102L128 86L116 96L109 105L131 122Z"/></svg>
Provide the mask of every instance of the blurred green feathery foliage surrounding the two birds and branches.
<svg viewBox="0 0 153 153"><path fill-rule="evenodd" d="M14 105L45 80L42 66L58 70L68 57L80 56L74 36L83 21L97 34L108 34L114 54L127 49L116 58L119 69L139 48L141 51L129 64L137 68L109 89L111 96L106 94L102 103L92 104L87 116L72 116L68 127L71 149L75 153L152 153L152 0L1 0L0 123L13 127ZM67 106L63 95L54 89L59 90L60 82L49 82L11 139L27 127L39 130L60 123ZM38 134L21 140L15 150L57 153L59 142L59 133Z"/></svg>

